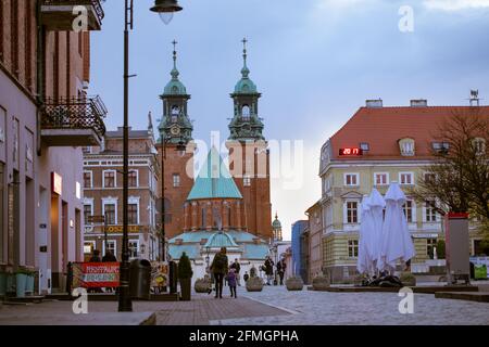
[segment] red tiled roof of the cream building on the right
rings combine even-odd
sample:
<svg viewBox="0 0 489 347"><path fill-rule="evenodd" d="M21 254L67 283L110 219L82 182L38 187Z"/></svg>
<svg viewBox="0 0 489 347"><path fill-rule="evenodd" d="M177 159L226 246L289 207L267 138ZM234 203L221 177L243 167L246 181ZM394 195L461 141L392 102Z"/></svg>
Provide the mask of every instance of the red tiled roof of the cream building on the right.
<svg viewBox="0 0 489 347"><path fill-rule="evenodd" d="M439 126L453 114L478 113L489 117L489 106L361 107L330 139L333 158L351 159L428 159ZM401 156L398 141L415 141L415 155ZM339 156L339 150L369 145L362 157Z"/></svg>

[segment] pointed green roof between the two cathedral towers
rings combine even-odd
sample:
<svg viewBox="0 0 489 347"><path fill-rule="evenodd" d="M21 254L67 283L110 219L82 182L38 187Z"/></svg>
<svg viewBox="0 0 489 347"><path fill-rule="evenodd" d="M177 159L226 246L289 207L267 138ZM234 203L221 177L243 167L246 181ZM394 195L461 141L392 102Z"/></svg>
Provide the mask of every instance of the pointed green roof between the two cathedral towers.
<svg viewBox="0 0 489 347"><path fill-rule="evenodd" d="M187 200L242 198L217 150L213 146Z"/></svg>

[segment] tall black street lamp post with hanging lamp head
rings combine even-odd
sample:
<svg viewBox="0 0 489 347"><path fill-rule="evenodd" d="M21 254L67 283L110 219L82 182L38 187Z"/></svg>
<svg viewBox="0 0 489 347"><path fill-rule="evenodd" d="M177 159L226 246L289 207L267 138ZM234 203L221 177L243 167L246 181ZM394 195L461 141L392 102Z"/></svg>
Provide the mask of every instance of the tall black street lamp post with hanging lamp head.
<svg viewBox="0 0 489 347"><path fill-rule="evenodd" d="M152 12L173 13L181 11L177 0L155 0ZM120 269L118 311L131 312L129 293L129 241L128 241L128 193L129 193L129 30L133 30L134 0L125 0L124 8L124 127L123 127L123 246Z"/></svg>

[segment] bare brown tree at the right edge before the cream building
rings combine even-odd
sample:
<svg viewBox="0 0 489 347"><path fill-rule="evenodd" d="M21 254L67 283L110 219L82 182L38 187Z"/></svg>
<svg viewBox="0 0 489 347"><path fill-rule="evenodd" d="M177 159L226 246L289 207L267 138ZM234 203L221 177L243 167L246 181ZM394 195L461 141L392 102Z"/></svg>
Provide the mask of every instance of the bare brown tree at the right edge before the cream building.
<svg viewBox="0 0 489 347"><path fill-rule="evenodd" d="M452 112L434 139L434 163L410 194L441 215L469 213L489 235L489 114L480 107Z"/></svg>

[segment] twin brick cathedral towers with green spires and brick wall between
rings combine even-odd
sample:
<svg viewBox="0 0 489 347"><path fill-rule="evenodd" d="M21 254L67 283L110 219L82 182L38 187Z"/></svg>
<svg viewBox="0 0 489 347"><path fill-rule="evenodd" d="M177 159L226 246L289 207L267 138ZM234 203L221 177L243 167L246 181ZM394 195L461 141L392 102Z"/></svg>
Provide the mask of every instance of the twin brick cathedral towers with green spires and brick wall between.
<svg viewBox="0 0 489 347"><path fill-rule="evenodd" d="M227 202L226 206L217 206L222 202L216 201L189 200L190 191L195 185L196 146L192 141L193 126L188 116L190 94L178 78L177 55L174 51L172 79L160 97L163 101L163 117L159 126L160 138L156 143L159 160L164 163L164 176L163 180L159 180L158 191L161 196L162 184L164 184L166 239L187 231L214 229L211 220L215 219L215 210L220 210L218 219L222 223L226 223L226 229L239 227L238 229L246 230L265 241L273 237L269 152L263 137L264 125L259 117L258 106L261 93L249 78L246 42L243 40L242 76L230 94L234 102L234 115L226 141L226 147L229 151L229 172L242 198ZM205 211L202 213L202 208L209 204L220 208L204 209ZM203 216L203 214L206 215ZM158 218L161 222L161 214ZM203 221L209 226L203 226Z"/></svg>

